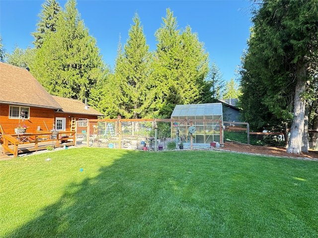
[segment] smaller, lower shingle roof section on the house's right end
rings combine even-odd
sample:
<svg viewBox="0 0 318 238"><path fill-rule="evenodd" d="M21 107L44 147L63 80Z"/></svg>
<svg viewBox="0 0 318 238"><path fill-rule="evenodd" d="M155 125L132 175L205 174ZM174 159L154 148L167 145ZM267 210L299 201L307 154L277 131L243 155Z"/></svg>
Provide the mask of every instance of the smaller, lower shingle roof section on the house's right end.
<svg viewBox="0 0 318 238"><path fill-rule="evenodd" d="M85 104L79 100L62 98L58 96L52 97L62 106L62 112L64 113L104 116L89 106L87 106L87 109L85 109Z"/></svg>

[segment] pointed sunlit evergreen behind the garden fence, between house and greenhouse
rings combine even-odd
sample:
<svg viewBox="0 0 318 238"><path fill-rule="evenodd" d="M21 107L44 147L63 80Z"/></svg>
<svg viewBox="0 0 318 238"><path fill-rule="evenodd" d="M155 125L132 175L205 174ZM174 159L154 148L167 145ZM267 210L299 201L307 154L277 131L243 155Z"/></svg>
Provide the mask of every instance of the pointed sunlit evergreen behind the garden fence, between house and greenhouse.
<svg viewBox="0 0 318 238"><path fill-rule="evenodd" d="M100 103L108 117L151 117L150 80L151 54L136 13L134 24L124 49L119 43L114 74L109 78L105 90L107 95Z"/></svg>

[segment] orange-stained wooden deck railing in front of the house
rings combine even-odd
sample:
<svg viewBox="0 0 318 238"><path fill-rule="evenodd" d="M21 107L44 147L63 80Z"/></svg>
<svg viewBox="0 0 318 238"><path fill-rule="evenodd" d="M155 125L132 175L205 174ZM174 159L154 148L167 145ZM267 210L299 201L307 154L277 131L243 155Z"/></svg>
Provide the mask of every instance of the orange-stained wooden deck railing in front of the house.
<svg viewBox="0 0 318 238"><path fill-rule="evenodd" d="M39 143L52 141L53 147L63 146L64 143L68 145L76 145L76 132L75 131L61 131L53 135L50 131L41 131L37 133L23 133L23 134L3 134L3 153L10 152L13 158L17 157L19 146L27 144L34 144L32 148L39 148ZM70 142L69 140L72 140ZM10 148L10 147L11 148ZM13 146L13 149L12 149Z"/></svg>

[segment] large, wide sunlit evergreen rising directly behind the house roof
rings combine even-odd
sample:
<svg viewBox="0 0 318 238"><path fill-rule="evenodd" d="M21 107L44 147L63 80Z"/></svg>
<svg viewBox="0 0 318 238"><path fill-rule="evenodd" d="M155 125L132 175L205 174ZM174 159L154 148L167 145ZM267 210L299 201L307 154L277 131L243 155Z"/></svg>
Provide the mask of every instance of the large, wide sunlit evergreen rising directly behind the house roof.
<svg viewBox="0 0 318 238"><path fill-rule="evenodd" d="M56 32L45 37L31 72L50 94L81 101L90 98L90 90L102 81L104 63L75 0L59 14Z"/></svg>

